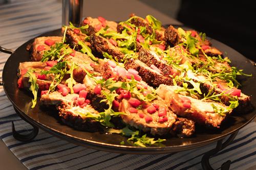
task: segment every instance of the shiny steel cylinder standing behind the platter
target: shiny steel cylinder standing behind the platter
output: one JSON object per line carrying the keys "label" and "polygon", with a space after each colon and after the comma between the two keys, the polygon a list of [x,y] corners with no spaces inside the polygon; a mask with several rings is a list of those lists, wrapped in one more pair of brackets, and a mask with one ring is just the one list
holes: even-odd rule
{"label": "shiny steel cylinder standing behind the platter", "polygon": [[62,0],[62,25],[78,26],[82,21],[82,4],[83,0]]}

